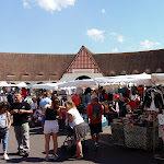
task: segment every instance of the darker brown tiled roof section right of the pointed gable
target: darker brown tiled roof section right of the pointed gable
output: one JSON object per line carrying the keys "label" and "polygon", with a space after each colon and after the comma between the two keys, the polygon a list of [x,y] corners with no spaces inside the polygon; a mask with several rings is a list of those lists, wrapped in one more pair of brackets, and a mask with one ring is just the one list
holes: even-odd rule
{"label": "darker brown tiled roof section right of the pointed gable", "polygon": [[93,54],[92,55],[105,75],[110,72],[119,75],[122,71],[127,74],[133,72],[155,73],[164,72],[164,49],[119,54]]}

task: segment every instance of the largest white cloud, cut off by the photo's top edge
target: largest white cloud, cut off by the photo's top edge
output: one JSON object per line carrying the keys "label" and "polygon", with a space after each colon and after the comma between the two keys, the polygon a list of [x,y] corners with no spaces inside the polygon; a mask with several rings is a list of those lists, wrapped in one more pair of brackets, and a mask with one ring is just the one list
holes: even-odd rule
{"label": "largest white cloud, cut off by the photo's top edge", "polygon": [[61,11],[62,8],[74,5],[75,0],[23,0],[23,5],[36,5],[46,11]]}

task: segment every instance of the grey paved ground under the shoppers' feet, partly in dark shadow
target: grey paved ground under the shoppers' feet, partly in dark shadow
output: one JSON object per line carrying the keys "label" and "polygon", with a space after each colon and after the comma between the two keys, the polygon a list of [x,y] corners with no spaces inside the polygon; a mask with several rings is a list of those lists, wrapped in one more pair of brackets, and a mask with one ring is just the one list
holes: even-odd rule
{"label": "grey paved ground under the shoppers' feet, partly in dark shadow", "polygon": [[[136,149],[126,149],[122,147],[114,145],[110,141],[110,127],[104,128],[104,132],[101,136],[101,143],[97,151],[93,148],[93,142],[90,136],[86,136],[85,145],[89,148],[87,152],[84,151],[83,160],[71,159],[71,151],[63,151],[61,145],[66,139],[66,132],[60,131],[58,136],[58,160],[56,163],[65,164],[154,164],[159,161],[154,161],[153,153]],[[31,154],[28,157],[23,159],[15,154],[16,140],[13,132],[13,127],[10,129],[9,137],[9,156],[8,163],[47,163],[44,161],[44,134],[40,127],[31,128]],[[7,163],[2,160],[2,151],[0,151],[0,164]],[[164,151],[163,151],[164,152]],[[50,153],[52,153],[52,144],[50,144]],[[50,161],[51,163],[54,161]]]}

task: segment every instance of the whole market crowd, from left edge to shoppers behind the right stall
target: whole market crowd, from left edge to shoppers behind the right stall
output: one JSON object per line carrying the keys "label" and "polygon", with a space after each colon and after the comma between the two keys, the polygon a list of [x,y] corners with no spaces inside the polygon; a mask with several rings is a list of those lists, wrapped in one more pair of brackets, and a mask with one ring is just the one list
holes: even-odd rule
{"label": "whole market crowd, from left edge to shoppers behind the right stall", "polygon": [[[45,160],[49,161],[49,141],[54,141],[54,160],[58,159],[57,133],[63,128],[66,120],[73,129],[73,136],[77,144],[75,159],[82,159],[81,140],[86,134],[86,120],[89,122],[94,148],[98,148],[99,133],[102,129],[102,118],[105,116],[108,125],[114,118],[125,117],[136,108],[142,108],[142,94],[132,91],[131,95],[128,89],[118,90],[115,93],[106,93],[103,87],[91,90],[91,87],[77,90],[69,98],[67,95],[58,96],[57,91],[50,95],[43,91],[28,98],[24,92],[14,93],[10,101],[0,103],[0,141],[3,144],[3,159],[9,160],[7,154],[9,129],[11,127],[11,116],[13,117],[13,127],[17,141],[17,155],[27,157],[30,155],[30,125],[37,124],[40,117],[43,133],[45,134]],[[141,95],[140,95],[141,94]],[[139,96],[140,95],[140,96]],[[11,101],[12,99],[12,101]],[[31,124],[30,124],[31,122]]]}

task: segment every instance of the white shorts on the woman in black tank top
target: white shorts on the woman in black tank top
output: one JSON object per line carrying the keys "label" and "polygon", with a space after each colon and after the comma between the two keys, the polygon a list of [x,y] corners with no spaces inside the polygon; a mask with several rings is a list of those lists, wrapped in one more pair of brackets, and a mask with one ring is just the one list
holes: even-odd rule
{"label": "white shorts on the woman in black tank top", "polygon": [[44,133],[57,133],[59,131],[58,120],[45,120]]}

